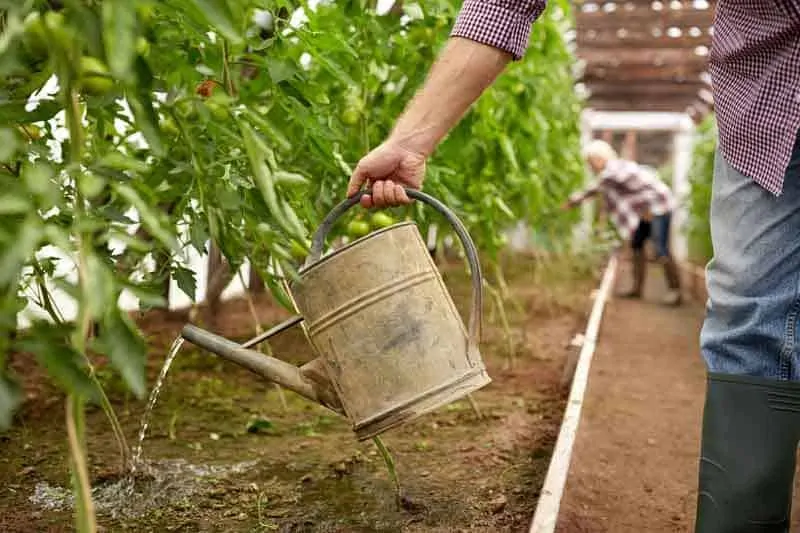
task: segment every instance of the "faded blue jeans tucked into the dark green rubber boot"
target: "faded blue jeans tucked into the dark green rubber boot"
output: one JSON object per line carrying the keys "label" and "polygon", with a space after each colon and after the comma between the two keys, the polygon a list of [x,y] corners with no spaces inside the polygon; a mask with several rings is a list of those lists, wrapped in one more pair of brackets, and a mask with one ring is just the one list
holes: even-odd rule
{"label": "faded blue jeans tucked into the dark green rubber boot", "polygon": [[700,345],[710,372],[800,380],[800,135],[773,196],[717,151]]}

